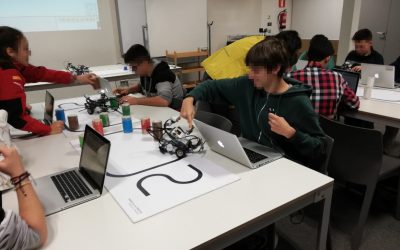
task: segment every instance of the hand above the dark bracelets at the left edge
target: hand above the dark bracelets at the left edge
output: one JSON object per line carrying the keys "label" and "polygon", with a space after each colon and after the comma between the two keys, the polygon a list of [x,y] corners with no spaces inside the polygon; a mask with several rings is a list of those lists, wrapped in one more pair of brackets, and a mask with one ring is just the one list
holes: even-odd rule
{"label": "hand above the dark bracelets at the left edge", "polygon": [[4,159],[0,161],[0,171],[9,175],[11,178],[19,176],[25,172],[21,163],[21,158],[17,150],[12,147],[1,146],[0,153]]}

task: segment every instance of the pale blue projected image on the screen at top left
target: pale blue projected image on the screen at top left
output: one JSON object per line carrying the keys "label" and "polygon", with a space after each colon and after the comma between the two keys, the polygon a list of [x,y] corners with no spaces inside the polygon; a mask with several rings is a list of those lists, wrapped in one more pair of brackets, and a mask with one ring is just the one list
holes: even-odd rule
{"label": "pale blue projected image on the screen at top left", "polygon": [[100,29],[97,0],[0,0],[0,25],[22,32]]}

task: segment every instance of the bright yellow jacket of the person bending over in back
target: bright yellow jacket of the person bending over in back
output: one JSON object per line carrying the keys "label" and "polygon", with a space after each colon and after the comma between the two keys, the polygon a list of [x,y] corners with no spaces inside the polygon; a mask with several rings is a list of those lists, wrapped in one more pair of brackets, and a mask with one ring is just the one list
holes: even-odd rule
{"label": "bright yellow jacket of the person bending over in back", "polygon": [[207,74],[215,80],[245,75],[249,72],[244,63],[247,52],[254,44],[264,38],[264,36],[249,36],[237,40],[214,52],[201,65]]}

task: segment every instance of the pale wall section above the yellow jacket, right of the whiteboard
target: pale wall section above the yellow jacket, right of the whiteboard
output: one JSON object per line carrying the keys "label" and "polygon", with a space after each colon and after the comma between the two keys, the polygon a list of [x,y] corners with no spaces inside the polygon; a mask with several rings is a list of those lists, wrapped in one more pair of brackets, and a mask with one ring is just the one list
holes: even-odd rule
{"label": "pale wall section above the yellow jacket, right of the whiteboard", "polygon": [[261,0],[208,0],[207,20],[211,26],[211,52],[226,45],[228,35],[258,34]]}

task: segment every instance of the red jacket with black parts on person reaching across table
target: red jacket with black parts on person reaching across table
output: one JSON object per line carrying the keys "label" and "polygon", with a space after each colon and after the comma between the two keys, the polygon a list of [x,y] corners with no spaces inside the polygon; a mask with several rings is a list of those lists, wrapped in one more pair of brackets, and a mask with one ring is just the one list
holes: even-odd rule
{"label": "red jacket with black parts on person reaching across table", "polygon": [[8,123],[13,127],[39,135],[51,132],[50,126],[26,113],[25,83],[54,82],[67,84],[73,81],[69,72],[15,64],[15,69],[0,68],[0,109],[8,112]]}

